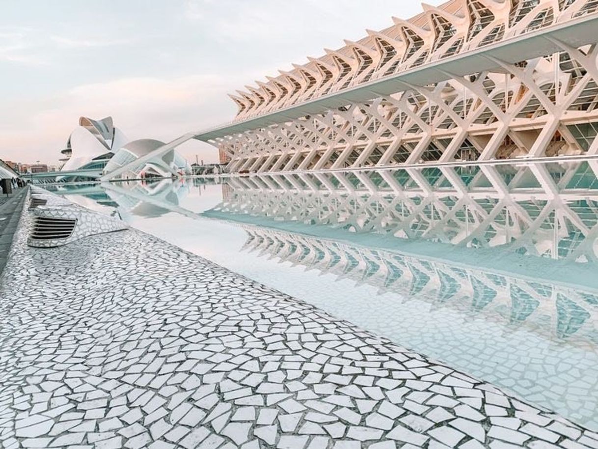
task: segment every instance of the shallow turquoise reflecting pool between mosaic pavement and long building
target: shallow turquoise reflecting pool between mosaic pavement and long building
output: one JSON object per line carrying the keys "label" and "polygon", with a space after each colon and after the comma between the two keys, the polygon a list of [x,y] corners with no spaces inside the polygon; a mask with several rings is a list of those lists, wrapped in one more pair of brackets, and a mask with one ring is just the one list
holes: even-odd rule
{"label": "shallow turquoise reflecting pool between mosaic pavement and long building", "polygon": [[[138,229],[598,429],[596,178],[587,164],[479,173],[163,181],[59,193],[117,210]],[[447,194],[459,180],[467,201]],[[432,197],[437,205],[426,206]],[[381,198],[392,213],[383,213]],[[402,226],[406,205],[416,209]],[[484,220],[490,214],[492,223]]]}

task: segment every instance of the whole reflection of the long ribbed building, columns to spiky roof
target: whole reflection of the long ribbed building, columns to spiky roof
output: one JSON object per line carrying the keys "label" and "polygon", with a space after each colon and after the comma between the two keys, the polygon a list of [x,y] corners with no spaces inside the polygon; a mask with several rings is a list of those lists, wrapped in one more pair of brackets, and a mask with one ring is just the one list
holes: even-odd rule
{"label": "whole reflection of the long ribbed building, columns to spiky roof", "polygon": [[597,331],[593,164],[231,177],[205,215],[249,225],[247,250],[565,337]]}

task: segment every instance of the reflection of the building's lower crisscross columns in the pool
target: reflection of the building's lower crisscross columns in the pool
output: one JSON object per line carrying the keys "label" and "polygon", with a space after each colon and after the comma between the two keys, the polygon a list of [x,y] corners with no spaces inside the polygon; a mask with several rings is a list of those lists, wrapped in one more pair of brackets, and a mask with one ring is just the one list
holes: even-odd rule
{"label": "reflection of the building's lower crisscross columns in the pool", "polygon": [[597,163],[234,177],[213,212],[595,263]]}

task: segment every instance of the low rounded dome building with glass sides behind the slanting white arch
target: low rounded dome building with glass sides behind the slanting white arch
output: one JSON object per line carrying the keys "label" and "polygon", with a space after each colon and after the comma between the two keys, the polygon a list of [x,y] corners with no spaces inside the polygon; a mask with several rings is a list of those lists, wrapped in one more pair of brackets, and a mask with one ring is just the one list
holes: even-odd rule
{"label": "low rounded dome building with glass sides behind the slanting white arch", "polygon": [[[155,139],[139,139],[129,142],[118,150],[112,159],[106,164],[103,173],[107,174],[117,168],[121,168],[140,157],[146,156],[157,148],[166,145],[164,142]],[[139,165],[133,165],[129,171],[124,172],[115,179],[127,178],[152,178],[171,177],[192,174],[191,166],[187,160],[175,150],[170,150],[160,157],[153,157],[144,160]]]}

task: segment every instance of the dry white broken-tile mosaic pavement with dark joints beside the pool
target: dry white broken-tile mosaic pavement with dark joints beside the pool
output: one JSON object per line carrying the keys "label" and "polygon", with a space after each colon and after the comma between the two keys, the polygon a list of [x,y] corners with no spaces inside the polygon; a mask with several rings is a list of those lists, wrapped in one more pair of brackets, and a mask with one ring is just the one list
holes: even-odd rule
{"label": "dry white broken-tile mosaic pavement with dark joints beside the pool", "polygon": [[[0,281],[0,448],[598,448],[598,434],[137,230]],[[7,293],[10,292],[10,293]]]}

